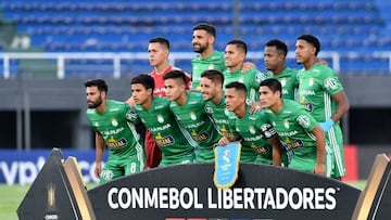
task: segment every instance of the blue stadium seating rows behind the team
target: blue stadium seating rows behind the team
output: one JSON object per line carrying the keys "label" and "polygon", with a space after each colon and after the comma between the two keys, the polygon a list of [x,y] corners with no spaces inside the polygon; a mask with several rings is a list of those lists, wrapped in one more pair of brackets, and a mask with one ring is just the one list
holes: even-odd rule
{"label": "blue stadium seating rows behind the team", "polygon": [[[389,72],[387,57],[370,55],[375,51],[391,50],[391,15],[388,13],[391,3],[388,1],[240,0],[238,5],[235,2],[14,0],[2,1],[0,8],[3,21],[15,24],[16,33],[28,35],[31,47],[47,52],[146,52],[148,40],[155,36],[167,37],[173,42],[173,52],[191,52],[192,26],[209,22],[217,27],[218,50],[223,50],[227,41],[240,38],[248,42],[250,51],[260,52],[267,40],[279,38],[293,51],[298,36],[313,34],[321,40],[324,51],[345,54],[341,59],[343,73]],[[238,17],[234,9],[239,9]],[[238,33],[232,25],[236,18]],[[3,39],[0,36],[7,47]],[[351,52],[362,55],[346,54]],[[76,70],[67,70],[70,76],[78,72],[72,62]],[[189,63],[184,62],[182,68],[190,69]],[[122,68],[127,68],[126,64],[129,62],[122,64]],[[102,65],[110,66],[100,62],[99,69],[105,68]],[[148,66],[148,62],[144,65]],[[128,70],[146,69],[142,66],[143,63],[138,63]]]}

